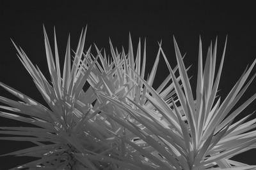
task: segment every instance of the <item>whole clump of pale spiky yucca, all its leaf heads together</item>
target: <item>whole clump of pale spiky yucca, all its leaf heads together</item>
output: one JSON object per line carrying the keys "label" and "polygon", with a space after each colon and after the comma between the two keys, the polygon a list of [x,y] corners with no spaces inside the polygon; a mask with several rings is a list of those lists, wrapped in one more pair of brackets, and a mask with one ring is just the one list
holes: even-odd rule
{"label": "whole clump of pale spiky yucca, all its leaf heads together", "polygon": [[[38,158],[13,169],[256,168],[230,159],[256,146],[256,132],[252,131],[256,120],[246,122],[247,116],[233,123],[234,118],[252,103],[256,94],[232,111],[255,77],[244,85],[256,60],[221,102],[216,94],[225,48],[217,72],[217,41],[213,52],[212,46],[209,47],[203,69],[200,40],[194,97],[187,74],[189,67],[184,65],[175,39],[177,67],[170,67],[159,43],[156,61],[145,78],[146,42],[143,57],[140,41],[134,57],[131,36],[128,53],[124,49],[118,52],[109,40],[112,59],[107,57],[105,51],[102,55],[96,45],[97,55],[94,57],[91,46],[83,52],[85,32],[82,31],[72,65],[68,38],[61,76],[55,31],[54,61],[44,30],[51,83],[15,45],[19,59],[33,77],[49,108],[4,83],[0,84],[22,100],[17,102],[1,97],[1,102],[8,106],[1,106],[6,111],[0,116],[35,125],[0,127],[3,129],[1,134],[16,135],[0,139],[31,141],[36,145],[5,154]],[[152,84],[161,55],[170,74],[154,89]],[[177,70],[179,77],[174,74]],[[84,91],[86,81],[90,87]],[[51,144],[45,145],[44,141]]]}

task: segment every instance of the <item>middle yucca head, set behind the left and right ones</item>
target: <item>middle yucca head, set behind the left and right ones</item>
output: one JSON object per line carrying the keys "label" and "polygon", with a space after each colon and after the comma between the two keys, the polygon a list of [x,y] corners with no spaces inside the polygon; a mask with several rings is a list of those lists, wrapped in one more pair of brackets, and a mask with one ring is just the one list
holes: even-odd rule
{"label": "middle yucca head, set behind the left and right ones", "polygon": [[[104,56],[100,54],[99,49],[95,45],[97,52],[99,53],[99,58],[102,66],[97,64],[97,67],[93,67],[92,74],[89,77],[89,83],[97,94],[106,94],[110,97],[114,97],[118,99],[118,101],[122,101],[125,104],[132,104],[129,99],[132,99],[136,103],[140,104],[141,106],[145,106],[154,110],[152,104],[150,104],[145,94],[148,91],[148,87],[143,85],[143,81],[141,81],[136,74],[140,75],[140,77],[144,78],[145,76],[145,64],[146,64],[146,41],[144,42],[144,49],[143,49],[143,60],[142,60],[142,67],[141,67],[141,42],[139,40],[138,48],[136,52],[136,57],[133,54],[132,48],[132,40],[131,35],[129,35],[129,52],[125,55],[124,48],[122,52],[118,52],[118,50],[114,50],[111,40],[109,39],[109,45],[111,50],[111,59],[113,62],[107,62],[106,52],[104,52]],[[160,44],[161,46],[161,44]],[[156,56],[156,60],[154,62],[154,66],[152,67],[152,71],[148,74],[147,78],[147,85],[152,88],[152,84],[154,82],[154,78],[156,76],[157,66],[159,63],[159,58],[161,54],[161,48],[159,48]],[[177,71],[177,66],[175,67],[175,71]],[[135,73],[134,73],[135,71]],[[166,103],[170,103],[170,98],[175,96],[175,90],[173,87],[172,82],[170,81],[171,77],[167,76],[165,80],[157,87],[156,91],[160,97],[166,101]],[[180,80],[180,78],[179,78]],[[168,85],[170,83],[170,85]],[[127,98],[129,97],[129,99]],[[102,97],[98,97],[97,104],[102,105],[102,101],[108,103],[108,99],[104,99]],[[132,106],[132,105],[131,105]],[[108,110],[108,113],[116,114],[117,117],[120,118],[129,118],[127,113],[123,111],[115,111],[118,110],[115,105],[111,105],[107,107],[105,105],[102,109]],[[156,117],[158,115],[156,114]],[[106,117],[108,119],[108,117]],[[111,121],[111,119],[108,119]],[[113,120],[112,120],[113,121]],[[112,122],[112,124],[114,124]],[[122,133],[122,129],[120,129],[120,125],[115,125],[116,129],[111,129],[112,132],[115,133]],[[110,129],[109,129],[110,130]]]}

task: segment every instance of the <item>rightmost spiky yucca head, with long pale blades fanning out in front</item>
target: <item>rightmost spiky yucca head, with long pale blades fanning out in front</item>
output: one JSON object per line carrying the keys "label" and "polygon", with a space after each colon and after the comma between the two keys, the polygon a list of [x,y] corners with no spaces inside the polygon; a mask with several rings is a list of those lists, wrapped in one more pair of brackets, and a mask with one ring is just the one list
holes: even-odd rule
{"label": "rightmost spiky yucca head, with long pale blades fanning out in front", "polygon": [[[99,93],[100,96],[108,99],[129,114],[129,117],[136,120],[135,124],[127,118],[114,117],[107,110],[104,111],[108,117],[125,127],[127,131],[136,134],[137,141],[131,141],[129,137],[125,138],[127,150],[131,151],[132,157],[136,157],[134,160],[148,164],[154,169],[256,169],[256,166],[248,166],[230,159],[234,155],[256,146],[256,131],[252,131],[256,127],[256,119],[245,122],[250,117],[248,115],[232,124],[234,118],[256,98],[256,94],[254,94],[236,110],[232,111],[232,108],[255,78],[254,74],[248,83],[244,84],[256,60],[249,69],[244,71],[236,85],[221,103],[220,97],[217,97],[216,94],[220,83],[225,48],[218,72],[215,68],[217,41],[213,52],[212,46],[209,46],[205,68],[202,69],[202,43],[200,40],[196,97],[193,97],[186,67],[175,39],[174,44],[184,90],[180,88],[161,46],[160,50],[170,71],[175,92],[179,98],[178,103],[174,102],[173,99],[172,103],[166,103],[148,85],[147,81],[140,78],[140,75],[134,71],[143,85],[148,87],[148,91],[143,94],[143,97],[154,106],[157,115],[161,115],[161,119],[156,117],[156,111],[141,106],[131,97],[127,97],[127,99],[132,103],[132,106],[106,96],[102,92]],[[214,80],[215,72],[217,72],[217,75]],[[179,107],[177,104],[179,104]],[[162,120],[166,120],[166,124],[163,124]],[[138,125],[138,122],[140,125]]]}

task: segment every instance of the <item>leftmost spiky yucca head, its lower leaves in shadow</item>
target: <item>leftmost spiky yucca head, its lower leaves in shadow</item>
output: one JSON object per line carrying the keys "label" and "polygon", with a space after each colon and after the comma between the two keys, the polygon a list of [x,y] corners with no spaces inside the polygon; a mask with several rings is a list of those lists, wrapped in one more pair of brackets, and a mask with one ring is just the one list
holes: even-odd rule
{"label": "leftmost spiky yucca head, its lower leaves in shadow", "polygon": [[[38,160],[13,169],[26,167],[29,169],[115,169],[112,166],[118,160],[108,159],[115,157],[117,148],[113,145],[115,143],[108,140],[113,136],[109,132],[109,129],[113,129],[113,125],[98,114],[99,104],[93,104],[97,100],[93,89],[89,88],[86,92],[83,90],[84,83],[90,76],[93,76],[91,71],[96,67],[95,63],[99,57],[98,54],[93,58],[90,48],[85,54],[83,53],[85,33],[86,30],[81,33],[72,65],[70,62],[70,38],[68,38],[61,77],[55,31],[54,62],[51,46],[44,29],[45,51],[52,83],[49,83],[40,69],[31,63],[26,53],[15,45],[20,61],[33,77],[37,89],[49,108],[8,85],[0,83],[1,87],[21,100],[17,102],[0,97],[1,103],[10,106],[0,106],[6,110],[1,112],[0,116],[35,126],[0,127],[4,130],[0,131],[1,134],[16,135],[15,137],[1,137],[1,140],[30,141],[36,145],[32,148],[5,154],[38,158]],[[104,105],[104,103],[102,104]],[[51,142],[51,145],[45,145],[45,141]],[[103,159],[107,159],[107,161]],[[125,167],[125,164],[123,166]]]}

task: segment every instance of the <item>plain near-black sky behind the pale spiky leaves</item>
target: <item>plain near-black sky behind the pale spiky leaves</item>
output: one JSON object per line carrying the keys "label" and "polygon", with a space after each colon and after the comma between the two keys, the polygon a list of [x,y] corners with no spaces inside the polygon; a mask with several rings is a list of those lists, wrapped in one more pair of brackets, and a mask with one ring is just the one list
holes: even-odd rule
{"label": "plain near-black sky behind the pale spiky leaves", "polygon": [[[156,3],[157,2],[157,3]],[[40,93],[26,69],[22,66],[10,38],[20,45],[29,59],[38,65],[49,78],[45,57],[43,27],[47,30],[49,39],[53,43],[53,27],[56,27],[60,60],[63,63],[68,33],[71,34],[71,46],[75,50],[81,29],[88,25],[86,45],[88,48],[96,43],[99,48],[106,47],[109,53],[108,38],[110,37],[118,50],[122,46],[127,52],[128,36],[131,32],[134,48],[138,39],[147,38],[147,73],[154,64],[157,54],[157,41],[163,40],[164,52],[172,67],[176,65],[172,35],[177,39],[180,51],[187,53],[185,64],[189,75],[196,75],[198,57],[198,39],[202,37],[203,55],[207,46],[218,36],[219,64],[225,38],[228,35],[227,52],[223,72],[221,74],[220,92],[222,99],[227,96],[233,85],[243,73],[245,67],[255,59],[256,49],[256,15],[253,4],[221,3],[218,1],[10,1],[1,3],[0,11],[0,81],[20,90],[24,94],[44,103]],[[95,52],[95,50],[93,50]],[[136,52],[136,50],[134,50]],[[217,64],[217,65],[218,65]],[[255,73],[255,69],[253,69]],[[156,83],[157,87],[168,74],[163,58],[159,63]],[[195,89],[195,77],[191,85]],[[241,104],[256,92],[256,81],[241,98]],[[0,96],[15,97],[0,89]],[[241,117],[252,113],[256,103],[253,102]],[[241,118],[239,117],[239,118]],[[255,117],[255,116],[254,116]],[[24,125],[19,122],[0,118],[0,126]],[[24,142],[0,141],[0,154],[26,148],[30,144]],[[238,155],[234,159],[247,164],[255,164],[255,151]],[[0,157],[0,169],[8,169],[22,164],[29,158]]]}

